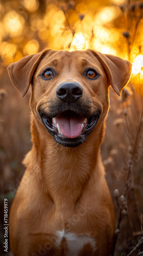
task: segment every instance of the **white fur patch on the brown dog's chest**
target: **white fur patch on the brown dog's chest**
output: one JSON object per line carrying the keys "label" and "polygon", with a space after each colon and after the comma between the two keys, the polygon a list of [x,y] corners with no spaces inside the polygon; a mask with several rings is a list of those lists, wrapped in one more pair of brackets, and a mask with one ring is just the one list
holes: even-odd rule
{"label": "white fur patch on the brown dog's chest", "polygon": [[67,248],[69,250],[68,256],[78,256],[79,251],[88,243],[92,247],[93,251],[96,250],[96,242],[87,234],[77,236],[75,233],[66,233],[63,229],[63,231],[57,231],[57,236],[57,247],[60,246],[63,238],[66,240]]}

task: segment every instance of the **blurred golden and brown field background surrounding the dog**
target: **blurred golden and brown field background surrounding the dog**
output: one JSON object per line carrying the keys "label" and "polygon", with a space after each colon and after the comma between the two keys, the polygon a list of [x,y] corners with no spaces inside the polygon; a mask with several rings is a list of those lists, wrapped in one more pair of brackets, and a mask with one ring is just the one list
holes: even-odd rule
{"label": "blurred golden and brown field background surrounding the dog", "polygon": [[134,247],[132,255],[143,251],[138,246],[143,223],[142,40],[143,1],[0,1],[0,255],[4,254],[4,198],[10,211],[25,170],[21,161],[31,148],[31,91],[21,99],[7,67],[45,47],[90,48],[128,59],[133,65],[121,97],[110,88],[102,159],[116,215],[112,255],[126,256]]}

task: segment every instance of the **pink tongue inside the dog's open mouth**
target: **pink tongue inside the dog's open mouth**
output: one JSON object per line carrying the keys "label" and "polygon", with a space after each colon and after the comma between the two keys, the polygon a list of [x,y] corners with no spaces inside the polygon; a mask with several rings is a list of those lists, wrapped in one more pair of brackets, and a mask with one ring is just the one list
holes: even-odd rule
{"label": "pink tongue inside the dog's open mouth", "polygon": [[81,125],[84,122],[84,117],[80,115],[72,115],[72,113],[63,113],[56,117],[56,123],[60,125],[61,132],[66,138],[76,138],[81,133]]}

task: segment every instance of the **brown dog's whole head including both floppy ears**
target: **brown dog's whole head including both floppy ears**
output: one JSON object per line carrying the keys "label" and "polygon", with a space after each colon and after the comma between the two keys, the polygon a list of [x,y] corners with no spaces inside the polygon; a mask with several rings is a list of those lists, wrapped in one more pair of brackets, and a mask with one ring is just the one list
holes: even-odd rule
{"label": "brown dog's whole head including both floppy ears", "polygon": [[93,50],[44,50],[12,63],[8,71],[22,97],[32,85],[31,109],[40,124],[56,142],[73,147],[103,122],[108,87],[120,95],[131,63]]}

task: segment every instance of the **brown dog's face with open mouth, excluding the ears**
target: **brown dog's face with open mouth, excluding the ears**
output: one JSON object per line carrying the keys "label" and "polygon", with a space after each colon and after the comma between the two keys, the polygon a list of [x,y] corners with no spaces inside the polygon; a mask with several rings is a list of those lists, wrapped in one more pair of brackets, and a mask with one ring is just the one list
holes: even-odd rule
{"label": "brown dog's face with open mouth, excluding the ears", "polygon": [[45,55],[34,75],[31,109],[56,142],[84,142],[108,110],[107,78],[100,61],[88,52]]}

